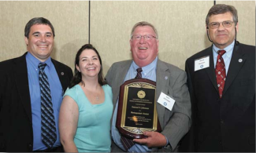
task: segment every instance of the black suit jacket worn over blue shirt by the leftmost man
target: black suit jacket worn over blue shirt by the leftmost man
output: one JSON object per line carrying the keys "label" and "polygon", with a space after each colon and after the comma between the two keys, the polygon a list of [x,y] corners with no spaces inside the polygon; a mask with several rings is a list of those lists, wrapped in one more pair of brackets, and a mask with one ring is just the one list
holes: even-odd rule
{"label": "black suit jacket worn over blue shirt by the leftmost man", "polygon": [[[32,108],[26,54],[0,63],[0,151],[33,149]],[[69,86],[72,70],[52,60],[62,89]]]}

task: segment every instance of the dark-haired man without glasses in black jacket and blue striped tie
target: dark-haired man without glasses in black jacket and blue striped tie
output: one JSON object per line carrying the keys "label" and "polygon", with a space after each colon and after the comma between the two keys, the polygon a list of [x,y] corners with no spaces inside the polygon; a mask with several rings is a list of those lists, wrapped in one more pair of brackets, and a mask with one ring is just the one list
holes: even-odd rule
{"label": "dark-haired man without glasses in black jacket and blue striped tie", "polygon": [[63,151],[58,113],[72,70],[50,58],[55,34],[49,20],[29,20],[24,35],[28,52],[0,63],[0,151]]}

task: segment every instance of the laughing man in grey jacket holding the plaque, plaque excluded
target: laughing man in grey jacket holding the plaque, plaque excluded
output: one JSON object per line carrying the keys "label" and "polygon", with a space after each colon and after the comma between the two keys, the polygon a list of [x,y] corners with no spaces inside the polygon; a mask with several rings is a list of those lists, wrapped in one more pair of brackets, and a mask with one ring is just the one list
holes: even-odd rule
{"label": "laughing man in grey jacket holding the plaque, plaque excluded", "polygon": [[[106,75],[106,80],[113,90],[112,151],[176,151],[178,142],[191,126],[191,102],[186,73],[158,59],[158,32],[150,23],[139,22],[134,25],[130,46],[132,60],[113,64]],[[140,71],[136,71],[137,69]],[[147,138],[132,140],[121,136],[116,122],[120,117],[117,117],[120,86],[135,76],[156,82],[155,101],[161,133],[147,131],[143,133]],[[169,107],[159,104],[160,94],[175,100],[171,111]]]}

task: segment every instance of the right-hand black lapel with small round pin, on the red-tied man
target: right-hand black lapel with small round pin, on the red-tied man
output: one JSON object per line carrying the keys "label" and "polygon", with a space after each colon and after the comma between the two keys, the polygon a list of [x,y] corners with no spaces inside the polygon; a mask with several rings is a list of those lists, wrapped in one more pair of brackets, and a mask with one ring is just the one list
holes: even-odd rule
{"label": "right-hand black lapel with small round pin, on the red-tied man", "polygon": [[233,50],[232,59],[228,67],[228,75],[224,85],[223,95],[231,86],[232,82],[236,78],[236,75],[239,73],[241,67],[243,67],[243,64],[247,60],[246,57],[243,56],[242,51],[242,49],[239,49],[239,46],[235,46]]}

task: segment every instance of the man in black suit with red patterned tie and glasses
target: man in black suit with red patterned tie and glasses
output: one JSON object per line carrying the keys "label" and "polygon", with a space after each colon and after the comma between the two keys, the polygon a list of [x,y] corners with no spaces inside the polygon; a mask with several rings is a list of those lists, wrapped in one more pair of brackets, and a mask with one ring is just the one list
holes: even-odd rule
{"label": "man in black suit with red patterned tie and glasses", "polygon": [[255,46],[236,41],[238,27],[232,5],[206,16],[213,46],[186,61],[193,124],[180,151],[255,152]]}

